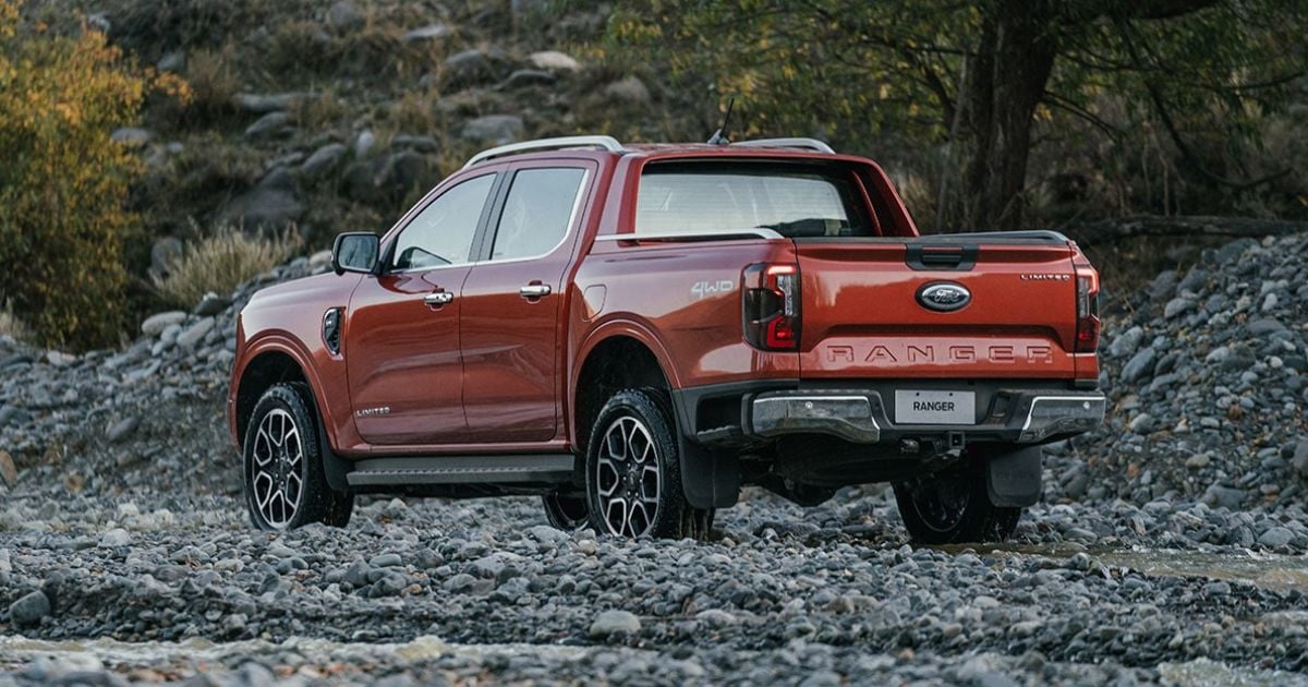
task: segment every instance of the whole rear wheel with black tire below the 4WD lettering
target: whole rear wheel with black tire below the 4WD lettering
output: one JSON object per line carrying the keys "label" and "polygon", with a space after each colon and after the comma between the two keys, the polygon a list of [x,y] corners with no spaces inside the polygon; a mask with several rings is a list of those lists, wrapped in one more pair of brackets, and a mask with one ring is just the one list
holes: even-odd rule
{"label": "whole rear wheel with black tire below the 4WD lettering", "polygon": [[[621,440],[627,442],[624,446],[617,446],[620,441],[612,434],[615,428],[625,437]],[[625,457],[628,449],[630,462],[640,474],[634,480],[628,476],[634,475],[628,462],[617,461],[619,454]],[[602,463],[607,465],[602,468]],[[657,472],[650,467],[657,468]],[[620,468],[624,470],[621,474]],[[654,492],[650,484],[655,474],[657,497],[651,499]],[[619,491],[623,493],[619,495]],[[586,499],[591,526],[600,534],[663,539],[708,538],[713,527],[713,509],[693,508],[685,500],[676,420],[662,391],[621,390],[600,408],[586,445]],[[632,506],[628,501],[630,499],[638,499],[640,508]],[[649,512],[650,508],[653,513]],[[624,509],[625,520],[617,517]]]}

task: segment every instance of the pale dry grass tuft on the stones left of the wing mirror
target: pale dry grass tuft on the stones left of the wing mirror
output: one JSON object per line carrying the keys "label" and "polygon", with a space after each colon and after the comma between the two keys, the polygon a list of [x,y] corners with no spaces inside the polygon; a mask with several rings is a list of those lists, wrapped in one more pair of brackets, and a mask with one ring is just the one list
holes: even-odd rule
{"label": "pale dry grass tuft on the stones left of the wing mirror", "polygon": [[300,247],[300,236],[288,229],[281,236],[251,236],[224,228],[188,246],[154,288],[179,308],[192,308],[205,293],[226,296],[241,284],[281,264]]}

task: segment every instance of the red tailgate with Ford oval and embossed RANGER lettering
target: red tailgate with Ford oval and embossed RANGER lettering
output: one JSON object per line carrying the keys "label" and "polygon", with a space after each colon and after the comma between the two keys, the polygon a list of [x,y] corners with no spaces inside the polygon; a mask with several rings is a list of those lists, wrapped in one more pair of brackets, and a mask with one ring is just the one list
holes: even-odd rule
{"label": "red tailgate with Ford oval and embossed RANGER lettering", "polygon": [[795,253],[803,378],[1075,377],[1066,241],[799,238]]}

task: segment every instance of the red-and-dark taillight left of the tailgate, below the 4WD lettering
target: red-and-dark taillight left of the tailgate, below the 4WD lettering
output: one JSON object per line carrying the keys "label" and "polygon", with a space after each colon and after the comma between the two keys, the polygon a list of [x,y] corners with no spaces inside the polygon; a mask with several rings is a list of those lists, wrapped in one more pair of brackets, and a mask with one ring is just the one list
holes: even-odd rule
{"label": "red-and-dark taillight left of the tailgate, below the 4WD lettering", "polygon": [[751,264],[744,270],[744,340],[764,351],[799,349],[799,267]]}

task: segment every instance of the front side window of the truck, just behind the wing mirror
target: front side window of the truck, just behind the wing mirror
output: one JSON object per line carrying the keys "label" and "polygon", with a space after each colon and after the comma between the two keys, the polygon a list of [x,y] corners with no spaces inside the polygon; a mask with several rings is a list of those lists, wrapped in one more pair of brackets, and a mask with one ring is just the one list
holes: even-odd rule
{"label": "front side window of the truck, just behind the wing mirror", "polygon": [[395,241],[391,270],[429,270],[472,262],[472,239],[494,186],[485,174],[445,191]]}

